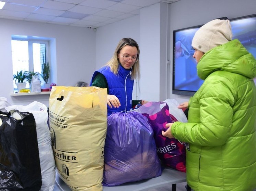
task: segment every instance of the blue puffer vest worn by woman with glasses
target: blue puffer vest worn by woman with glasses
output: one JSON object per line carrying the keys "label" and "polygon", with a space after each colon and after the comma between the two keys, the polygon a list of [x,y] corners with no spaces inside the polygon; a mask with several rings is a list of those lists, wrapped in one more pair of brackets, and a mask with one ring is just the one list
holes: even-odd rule
{"label": "blue puffer vest worn by woman with glasses", "polygon": [[115,95],[121,104],[119,108],[110,108],[107,106],[107,115],[109,116],[113,112],[129,111],[132,104],[132,90],[134,82],[134,80],[131,80],[131,70],[127,70],[122,66],[119,66],[118,75],[116,75],[110,71],[108,66],[104,66],[94,72],[92,81],[98,72],[105,76],[108,83],[109,94]]}

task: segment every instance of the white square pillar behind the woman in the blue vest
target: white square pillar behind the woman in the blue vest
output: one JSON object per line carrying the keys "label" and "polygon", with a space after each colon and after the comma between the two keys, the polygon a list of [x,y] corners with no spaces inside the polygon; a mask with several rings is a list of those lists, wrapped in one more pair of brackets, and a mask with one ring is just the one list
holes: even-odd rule
{"label": "white square pillar behind the woman in the blue vest", "polygon": [[156,3],[140,12],[141,98],[148,101],[166,99],[167,16],[167,3]]}

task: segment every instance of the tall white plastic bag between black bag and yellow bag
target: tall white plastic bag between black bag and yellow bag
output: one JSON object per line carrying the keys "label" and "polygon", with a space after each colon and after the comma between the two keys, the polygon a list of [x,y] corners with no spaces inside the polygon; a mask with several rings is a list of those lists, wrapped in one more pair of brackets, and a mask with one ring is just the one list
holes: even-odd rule
{"label": "tall white plastic bag between black bag and yellow bag", "polygon": [[51,147],[51,133],[47,124],[47,107],[34,101],[26,106],[12,105],[5,107],[7,111],[19,110],[33,114],[36,122],[37,142],[42,174],[42,187],[40,191],[53,191],[55,185],[55,161]]}

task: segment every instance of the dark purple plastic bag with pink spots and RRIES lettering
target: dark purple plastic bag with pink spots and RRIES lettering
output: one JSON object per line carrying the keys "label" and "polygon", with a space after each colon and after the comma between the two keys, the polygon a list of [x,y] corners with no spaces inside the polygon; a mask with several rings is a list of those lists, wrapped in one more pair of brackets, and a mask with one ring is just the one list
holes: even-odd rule
{"label": "dark purple plastic bag with pink spots and RRIES lettering", "polygon": [[156,149],[161,162],[171,168],[186,172],[186,149],[184,143],[162,135],[165,125],[177,121],[164,102],[148,102],[139,107],[139,113],[145,115],[154,131]]}

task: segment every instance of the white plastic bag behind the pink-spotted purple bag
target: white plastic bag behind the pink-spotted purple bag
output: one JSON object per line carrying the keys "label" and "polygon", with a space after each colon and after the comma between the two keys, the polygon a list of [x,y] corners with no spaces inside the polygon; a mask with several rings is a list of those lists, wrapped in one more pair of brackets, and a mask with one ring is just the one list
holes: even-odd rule
{"label": "white plastic bag behind the pink-spotted purple bag", "polygon": [[178,108],[179,103],[175,99],[166,99],[165,102],[169,107],[169,112],[173,115],[178,121],[186,123],[188,122],[187,117],[182,109]]}

